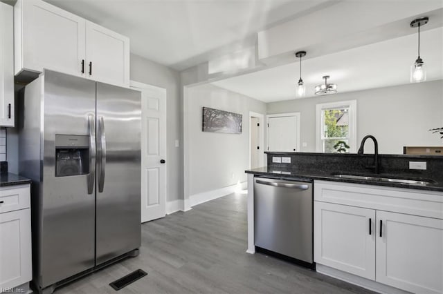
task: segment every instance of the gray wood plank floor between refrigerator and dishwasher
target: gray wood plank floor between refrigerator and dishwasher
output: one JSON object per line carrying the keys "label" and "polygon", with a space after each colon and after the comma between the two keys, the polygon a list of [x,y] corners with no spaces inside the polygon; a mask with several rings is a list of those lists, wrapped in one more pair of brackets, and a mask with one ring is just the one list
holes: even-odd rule
{"label": "gray wood plank floor between refrigerator and dishwasher", "polygon": [[246,195],[228,195],[142,226],[140,255],[55,293],[117,293],[109,286],[141,268],[123,293],[372,293],[307,268],[246,251]]}

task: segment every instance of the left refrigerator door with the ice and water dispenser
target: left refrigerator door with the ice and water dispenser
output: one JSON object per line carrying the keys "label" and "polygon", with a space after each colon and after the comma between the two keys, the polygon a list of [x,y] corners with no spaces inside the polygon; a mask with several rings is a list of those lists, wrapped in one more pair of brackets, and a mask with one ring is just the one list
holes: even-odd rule
{"label": "left refrigerator door with the ice and water dispenser", "polygon": [[45,70],[43,90],[43,173],[33,195],[42,201],[33,207],[39,215],[33,255],[38,284],[46,287],[94,266],[96,83]]}

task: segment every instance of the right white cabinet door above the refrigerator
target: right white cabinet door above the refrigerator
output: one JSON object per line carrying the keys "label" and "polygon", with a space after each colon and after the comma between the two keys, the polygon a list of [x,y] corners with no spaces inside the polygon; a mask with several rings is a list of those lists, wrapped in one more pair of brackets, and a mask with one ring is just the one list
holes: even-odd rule
{"label": "right white cabinet door above the refrigerator", "polygon": [[87,77],[129,87],[129,38],[87,21]]}

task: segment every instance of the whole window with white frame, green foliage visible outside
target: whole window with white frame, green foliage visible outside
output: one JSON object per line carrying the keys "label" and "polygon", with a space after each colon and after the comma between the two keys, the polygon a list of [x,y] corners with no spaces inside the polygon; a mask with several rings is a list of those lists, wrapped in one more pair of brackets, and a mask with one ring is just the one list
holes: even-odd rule
{"label": "whole window with white frame, green foliage visible outside", "polygon": [[317,104],[316,119],[317,152],[356,152],[355,100]]}

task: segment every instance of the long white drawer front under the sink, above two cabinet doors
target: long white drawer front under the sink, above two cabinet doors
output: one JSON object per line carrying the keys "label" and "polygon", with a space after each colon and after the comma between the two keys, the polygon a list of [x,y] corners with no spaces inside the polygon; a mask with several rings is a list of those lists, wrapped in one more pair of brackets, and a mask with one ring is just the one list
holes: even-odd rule
{"label": "long white drawer front under the sink, above two cabinet doors", "polygon": [[314,199],[320,202],[443,219],[442,192],[314,181]]}

